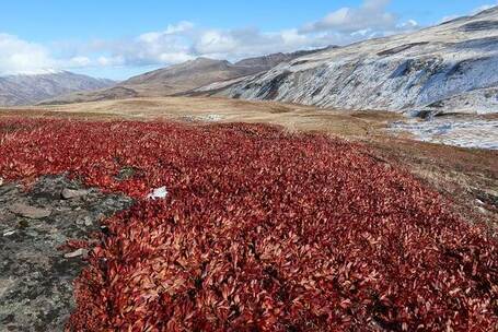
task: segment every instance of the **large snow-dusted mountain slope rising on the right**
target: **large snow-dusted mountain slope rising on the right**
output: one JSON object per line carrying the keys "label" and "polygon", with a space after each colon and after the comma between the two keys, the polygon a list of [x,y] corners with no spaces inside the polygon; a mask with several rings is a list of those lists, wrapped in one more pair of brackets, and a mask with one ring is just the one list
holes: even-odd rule
{"label": "large snow-dusted mountain slope rising on the right", "polygon": [[498,111],[497,87],[498,8],[493,8],[415,33],[306,55],[199,92],[345,109],[486,114]]}

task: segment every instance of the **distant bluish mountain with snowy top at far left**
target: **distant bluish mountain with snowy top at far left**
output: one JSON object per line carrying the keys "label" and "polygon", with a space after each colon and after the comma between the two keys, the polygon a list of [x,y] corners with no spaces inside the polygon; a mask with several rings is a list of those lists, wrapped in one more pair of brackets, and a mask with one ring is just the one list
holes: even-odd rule
{"label": "distant bluish mountain with snowy top at far left", "polygon": [[31,105],[76,91],[91,91],[115,82],[68,71],[0,78],[0,106]]}

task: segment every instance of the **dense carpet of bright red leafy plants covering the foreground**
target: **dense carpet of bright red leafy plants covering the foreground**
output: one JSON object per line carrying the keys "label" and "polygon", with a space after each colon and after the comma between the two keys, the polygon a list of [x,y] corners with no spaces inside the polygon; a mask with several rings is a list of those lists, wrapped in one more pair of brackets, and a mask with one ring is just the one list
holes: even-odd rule
{"label": "dense carpet of bright red leafy plants covering the foreground", "polygon": [[106,222],[70,330],[497,328],[497,240],[364,147],[254,124],[3,118],[0,133],[7,179],[69,171],[137,199]]}

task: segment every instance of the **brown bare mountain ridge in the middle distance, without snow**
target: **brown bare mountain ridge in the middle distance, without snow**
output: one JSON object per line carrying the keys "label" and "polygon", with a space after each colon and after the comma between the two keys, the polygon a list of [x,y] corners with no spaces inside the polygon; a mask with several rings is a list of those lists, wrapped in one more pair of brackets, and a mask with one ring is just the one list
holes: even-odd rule
{"label": "brown bare mountain ridge in the middle distance, without snow", "polygon": [[74,93],[44,100],[43,104],[67,104],[120,99],[127,97],[162,97],[189,92],[213,82],[240,79],[268,71],[278,63],[290,61],[303,55],[320,50],[274,54],[248,58],[235,63],[227,60],[198,58],[196,60],[154,70],[134,76],[112,88]]}

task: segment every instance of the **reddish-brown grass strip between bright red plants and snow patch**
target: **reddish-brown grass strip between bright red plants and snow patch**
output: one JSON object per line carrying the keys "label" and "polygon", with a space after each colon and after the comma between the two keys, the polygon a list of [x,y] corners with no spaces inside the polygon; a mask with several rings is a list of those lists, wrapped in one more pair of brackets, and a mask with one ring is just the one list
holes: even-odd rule
{"label": "reddish-brown grass strip between bright red plants and snow patch", "polygon": [[[375,155],[401,165],[454,202],[466,220],[498,230],[498,152],[378,135]],[[480,203],[480,202],[482,203]]]}

